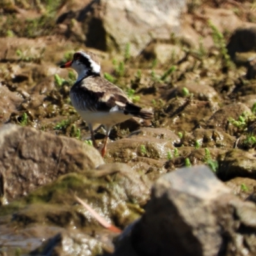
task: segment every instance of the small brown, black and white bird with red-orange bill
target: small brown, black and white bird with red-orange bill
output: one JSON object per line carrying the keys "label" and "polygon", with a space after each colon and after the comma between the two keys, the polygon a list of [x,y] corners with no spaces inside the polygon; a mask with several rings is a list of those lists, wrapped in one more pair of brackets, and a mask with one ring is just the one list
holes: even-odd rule
{"label": "small brown, black and white bird with red-orange bill", "polygon": [[77,51],[73,59],[60,68],[73,68],[77,72],[77,80],[70,89],[70,100],[90,129],[93,147],[98,147],[93,134],[93,125],[101,124],[106,129],[101,150],[102,157],[106,154],[108,136],[113,125],[124,122],[132,116],[143,119],[153,118],[152,111],[134,104],[118,86],[100,75],[97,54]]}

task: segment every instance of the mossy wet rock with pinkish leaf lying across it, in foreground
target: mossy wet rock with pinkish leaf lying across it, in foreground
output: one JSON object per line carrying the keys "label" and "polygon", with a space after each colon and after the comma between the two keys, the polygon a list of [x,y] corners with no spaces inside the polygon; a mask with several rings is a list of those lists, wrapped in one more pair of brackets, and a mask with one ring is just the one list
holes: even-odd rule
{"label": "mossy wet rock with pinkish leaf lying across it, in foreground", "polygon": [[[85,200],[100,216],[118,227],[136,220],[148,201],[151,183],[126,164],[102,164],[97,169],[61,175],[17,201],[4,205],[2,214],[13,214],[16,225],[43,223],[59,227],[99,228],[99,223],[74,195]],[[61,205],[61,207],[60,207]],[[0,213],[1,213],[0,212]],[[0,220],[4,222],[6,218]],[[0,222],[1,222],[0,221]]]}

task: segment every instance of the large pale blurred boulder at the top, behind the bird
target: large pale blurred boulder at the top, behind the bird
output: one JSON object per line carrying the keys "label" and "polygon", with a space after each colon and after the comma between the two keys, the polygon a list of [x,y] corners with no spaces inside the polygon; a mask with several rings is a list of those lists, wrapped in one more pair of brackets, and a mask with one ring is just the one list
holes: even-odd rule
{"label": "large pale blurred boulder at the top, behind the bird", "polygon": [[83,9],[63,13],[58,22],[70,22],[70,18],[81,22],[87,47],[124,52],[129,43],[136,56],[152,38],[168,39],[172,32],[179,32],[185,4],[184,0],[92,1]]}

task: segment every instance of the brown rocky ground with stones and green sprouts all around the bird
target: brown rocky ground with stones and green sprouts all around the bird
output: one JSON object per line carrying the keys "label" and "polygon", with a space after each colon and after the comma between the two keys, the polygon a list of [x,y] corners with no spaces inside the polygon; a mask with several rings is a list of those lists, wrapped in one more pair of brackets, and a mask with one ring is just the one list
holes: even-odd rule
{"label": "brown rocky ground with stones and green sprouts all around the bird", "polygon": [[[225,185],[210,172],[202,175],[202,183],[195,181],[196,196],[193,189],[186,190],[195,186],[188,180],[173,191],[206,202],[201,198],[205,191],[200,189],[206,186],[207,204],[220,201],[216,209],[227,216],[238,212],[237,222],[232,217],[212,217],[211,223],[198,224],[212,225],[216,234],[216,223],[228,220],[230,229],[225,234],[236,243],[225,247],[223,241],[228,238],[215,237],[214,250],[207,254],[202,237],[190,237],[184,244],[177,239],[180,248],[193,239],[199,242],[176,255],[255,255],[255,224],[249,221],[254,220],[254,205],[243,202],[255,201],[256,187],[254,1],[173,0],[171,7],[158,6],[158,12],[163,12],[156,15],[157,22],[164,24],[161,29],[143,1],[131,1],[128,7],[125,4],[130,1],[114,2],[0,3],[0,255],[113,253],[116,234],[101,228],[74,195],[121,229],[146,209],[131,239],[133,244],[134,237],[144,240],[135,243],[136,252],[127,255],[150,255],[143,252],[152,239],[144,226],[149,218],[150,223],[154,220],[154,230],[160,218],[150,215],[158,195],[154,188],[164,173],[173,175],[168,179],[178,179],[174,170],[199,164],[209,166]],[[115,17],[122,22],[115,22]],[[172,22],[166,22],[170,17]],[[145,36],[142,31],[147,31]],[[154,111],[153,120],[132,118],[113,127],[104,159],[92,147],[88,126],[70,104],[68,93],[76,74],[59,68],[81,48],[99,55],[102,76],[120,86],[136,104]],[[104,129],[99,128],[95,136],[100,144]],[[216,191],[207,180],[223,193],[212,199]],[[226,204],[232,205],[227,211]],[[150,205],[153,209],[148,210]],[[241,213],[241,209],[248,210]],[[236,225],[240,226],[236,229]],[[189,227],[196,228],[195,221]],[[165,232],[163,236],[176,235]],[[69,244],[67,251],[61,244]]]}

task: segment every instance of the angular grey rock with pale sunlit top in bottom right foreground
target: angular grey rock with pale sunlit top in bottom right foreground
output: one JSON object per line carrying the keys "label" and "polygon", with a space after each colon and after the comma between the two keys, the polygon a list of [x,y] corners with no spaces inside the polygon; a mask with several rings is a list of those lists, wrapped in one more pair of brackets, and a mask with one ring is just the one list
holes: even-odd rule
{"label": "angular grey rock with pale sunlit top in bottom right foreground", "polygon": [[206,166],[163,175],[133,230],[136,250],[145,255],[217,255],[222,239],[213,211],[228,193]]}

